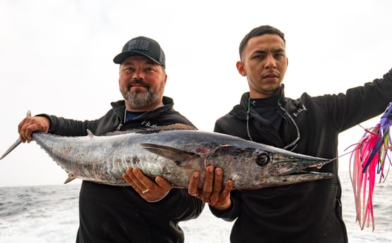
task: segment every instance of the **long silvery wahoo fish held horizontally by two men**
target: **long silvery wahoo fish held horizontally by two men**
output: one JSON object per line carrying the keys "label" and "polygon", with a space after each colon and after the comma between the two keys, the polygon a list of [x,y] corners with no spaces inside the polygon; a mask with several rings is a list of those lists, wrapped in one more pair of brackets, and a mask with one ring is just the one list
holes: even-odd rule
{"label": "long silvery wahoo fish held horizontally by two men", "polygon": [[[234,189],[274,187],[333,177],[331,173],[305,170],[320,168],[331,161],[328,159],[295,154],[231,135],[171,126],[104,136],[89,132],[84,137],[35,132],[32,139],[66,170],[66,182],[80,178],[106,185],[128,185],[122,175],[127,168],[137,167],[149,177],[160,175],[176,187],[188,187],[192,173],[200,171],[203,178],[208,165],[222,168],[223,180],[233,180]],[[6,154],[17,145],[18,141]]]}

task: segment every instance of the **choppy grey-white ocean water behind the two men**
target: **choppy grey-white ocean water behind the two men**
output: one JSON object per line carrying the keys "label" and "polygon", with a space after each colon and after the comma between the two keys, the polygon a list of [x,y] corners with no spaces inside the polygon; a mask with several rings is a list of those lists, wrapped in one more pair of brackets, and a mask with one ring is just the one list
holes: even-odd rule
{"label": "choppy grey-white ocean water behind the two men", "polygon": [[[348,172],[341,173],[343,217],[350,243],[392,242],[392,182],[374,190],[376,228],[360,230],[355,223],[353,189]],[[80,185],[0,187],[0,243],[70,243],[78,230]],[[206,207],[202,215],[180,223],[185,242],[229,242],[232,223],[215,218]]]}

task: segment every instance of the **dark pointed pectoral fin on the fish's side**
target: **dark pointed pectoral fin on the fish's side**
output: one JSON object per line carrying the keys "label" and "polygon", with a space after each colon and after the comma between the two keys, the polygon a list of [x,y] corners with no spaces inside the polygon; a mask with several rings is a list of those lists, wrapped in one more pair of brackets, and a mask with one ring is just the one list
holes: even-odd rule
{"label": "dark pointed pectoral fin on the fish's side", "polygon": [[199,157],[199,154],[188,152],[188,151],[183,151],[180,149],[176,149],[173,147],[168,147],[160,144],[148,144],[148,143],[142,143],[140,146],[143,149],[147,149],[148,151],[157,154],[159,156],[162,156],[164,158],[168,158],[171,161],[176,162],[178,166],[181,165],[181,163],[185,161],[191,161],[195,159],[196,157]]}

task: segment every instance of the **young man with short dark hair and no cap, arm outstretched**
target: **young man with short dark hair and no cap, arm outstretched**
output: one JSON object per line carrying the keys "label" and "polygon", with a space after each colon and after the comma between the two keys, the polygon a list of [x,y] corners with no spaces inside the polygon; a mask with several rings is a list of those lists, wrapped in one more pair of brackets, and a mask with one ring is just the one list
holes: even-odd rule
{"label": "young man with short dark hair and no cap, arm outstretched", "polygon": [[[392,70],[381,79],[345,94],[299,99],[284,95],[283,77],[288,66],[283,33],[269,25],[251,30],[240,44],[240,75],[247,77],[250,92],[240,104],[216,120],[215,132],[235,135],[321,158],[338,156],[338,134],[385,111],[392,101]],[[221,168],[207,168],[204,189],[195,187],[212,213],[233,221],[231,242],[348,242],[341,208],[338,161],[319,172],[331,179],[256,190],[231,191],[231,180],[222,182]],[[222,183],[226,183],[221,191]]]}

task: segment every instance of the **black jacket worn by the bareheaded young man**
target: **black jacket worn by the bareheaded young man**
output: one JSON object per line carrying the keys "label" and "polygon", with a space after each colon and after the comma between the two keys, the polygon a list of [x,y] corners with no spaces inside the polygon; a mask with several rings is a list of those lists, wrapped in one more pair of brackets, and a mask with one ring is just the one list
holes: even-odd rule
{"label": "black jacket worn by the bareheaded young man", "polygon": [[[290,99],[284,96],[283,88],[281,85],[278,94],[266,101],[267,106],[275,109],[280,116],[280,124],[271,124],[271,113],[267,115],[269,117],[257,113],[259,107],[252,105],[259,106],[257,104],[262,101],[252,102],[249,93],[245,93],[240,104],[216,120],[214,131],[244,139],[252,137],[255,142],[280,148],[295,141],[299,132],[300,139],[295,143],[293,152],[336,158],[339,132],[379,115],[392,101],[392,70],[382,79],[348,89],[345,94],[310,96],[304,93],[299,99]],[[265,108],[261,110],[265,111]],[[276,120],[276,116],[272,118]],[[281,187],[241,192],[233,190],[231,208],[226,211],[218,211],[212,206],[209,208],[219,218],[235,220],[231,230],[233,243],[346,243],[348,237],[342,218],[338,160],[317,171],[335,176]]]}

